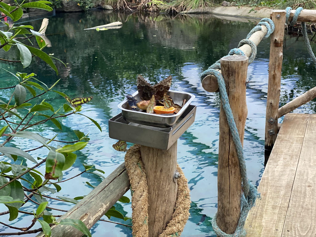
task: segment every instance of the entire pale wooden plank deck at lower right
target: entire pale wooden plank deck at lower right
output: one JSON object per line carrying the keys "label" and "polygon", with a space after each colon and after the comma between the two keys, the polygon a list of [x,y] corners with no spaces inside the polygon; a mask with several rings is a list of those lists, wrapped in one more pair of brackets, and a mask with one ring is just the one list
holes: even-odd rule
{"label": "entire pale wooden plank deck at lower right", "polygon": [[248,236],[316,236],[316,115],[287,114],[249,212]]}

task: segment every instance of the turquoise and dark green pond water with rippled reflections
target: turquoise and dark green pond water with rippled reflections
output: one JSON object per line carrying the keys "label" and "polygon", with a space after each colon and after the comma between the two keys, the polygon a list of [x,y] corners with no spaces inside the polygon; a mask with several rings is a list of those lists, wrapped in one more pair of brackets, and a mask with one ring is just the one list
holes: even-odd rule
{"label": "turquoise and dark green pond water with rippled reflections", "polygon": [[[64,173],[64,178],[83,171],[82,162],[95,164],[96,168],[105,171],[105,176],[122,163],[125,153],[112,148],[116,141],[108,137],[108,120],[120,112],[117,105],[125,98],[125,94],[132,94],[137,90],[138,74],[142,74],[152,83],[172,75],[171,89],[194,94],[196,98],[192,104],[197,105],[195,122],[178,140],[178,163],[188,179],[192,201],[191,216],[181,236],[215,236],[211,219],[217,209],[220,98],[217,93],[204,91],[199,75],[236,47],[256,23],[227,21],[210,15],[145,17],[108,14],[103,11],[57,14],[49,20],[46,35],[52,47],[46,48],[45,52],[54,53],[54,57],[66,63],[67,68],[57,63],[59,75],[56,76],[51,68],[37,58],[26,69],[17,64],[2,63],[1,67],[12,72],[34,72],[38,79],[50,85],[61,78],[57,90],[70,97],[94,96],[91,102],[83,106],[83,113],[96,120],[101,125],[102,132],[82,116],[62,119],[63,132],[50,125],[34,129],[46,137],[59,133],[59,140],[75,139],[75,136],[66,137],[65,132],[70,129],[90,133],[89,144],[78,153],[75,165]],[[83,30],[113,21],[123,22],[123,27],[99,32]],[[41,20],[27,24],[38,29]],[[270,39],[260,43],[257,58],[248,68],[250,82],[247,85],[248,117],[244,152],[249,179],[256,186],[264,170],[269,42]],[[316,50],[314,43],[312,48]],[[282,77],[280,105],[316,86],[315,67],[302,38],[288,35],[285,37]],[[8,85],[12,78],[2,71],[1,87]],[[7,96],[0,94],[0,99]],[[65,103],[64,98],[55,94],[47,97],[47,101],[54,105]],[[295,112],[315,113],[316,102],[307,103]],[[15,143],[19,143],[19,140],[16,139]],[[22,148],[37,146],[31,141],[19,145]],[[33,155],[40,156],[41,151]],[[101,180],[97,175],[83,174],[70,182],[61,183],[62,190],[52,196],[73,198],[87,195],[92,188],[85,182],[98,185]],[[130,192],[125,196],[130,197]],[[60,204],[56,201],[51,206],[68,210],[72,204]],[[23,210],[30,211],[32,208],[33,205],[28,203]],[[131,204],[117,204],[116,208],[126,216],[131,216]],[[57,211],[52,213],[61,214]],[[20,223],[29,223],[31,219],[32,217],[20,215],[12,224],[17,226]],[[7,217],[1,216],[0,221],[7,222]],[[111,218],[111,221],[131,225],[130,220],[124,222]],[[0,232],[8,231],[6,227],[0,227]],[[91,231],[95,237],[132,236],[131,228],[108,222],[97,222]]]}

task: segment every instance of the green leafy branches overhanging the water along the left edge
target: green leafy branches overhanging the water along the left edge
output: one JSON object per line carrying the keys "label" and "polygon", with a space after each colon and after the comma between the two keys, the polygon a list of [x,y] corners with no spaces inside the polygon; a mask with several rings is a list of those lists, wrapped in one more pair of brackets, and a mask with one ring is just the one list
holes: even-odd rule
{"label": "green leafy branches overhanging the water along the left edge", "polygon": [[[52,8],[47,4],[50,4],[50,2],[43,0],[17,3],[16,6],[9,6],[1,2],[0,11],[5,15],[1,16],[0,20],[6,16],[9,16],[13,21],[19,20],[23,15],[21,8],[37,8],[51,11]],[[0,30],[0,49],[2,48],[5,52],[12,48],[17,49],[20,60],[4,58],[0,58],[0,60],[21,62],[23,68],[26,68],[31,64],[33,57],[38,57],[58,74],[57,67],[52,60],[54,58],[42,51],[46,47],[46,43],[39,32],[34,31],[33,27],[29,25],[15,27],[14,24],[2,23],[6,25],[6,30]],[[30,40],[32,38],[38,47],[32,44]],[[9,214],[8,219],[11,222],[18,217],[21,212],[20,209],[27,202],[32,202],[35,207],[33,213],[22,212],[34,216],[28,227],[17,228],[9,224],[5,225],[20,230],[20,232],[11,233],[11,235],[36,233],[31,228],[36,222],[39,222],[42,228],[37,229],[37,232],[44,231],[46,236],[51,236],[52,225],[70,225],[82,231],[85,235],[91,236],[88,228],[82,221],[64,219],[56,222],[56,216],[49,212],[50,209],[54,209],[49,206],[51,199],[60,202],[78,203],[78,200],[83,198],[52,198],[50,193],[53,194],[61,190],[61,186],[58,183],[72,179],[82,173],[92,173],[104,178],[100,174],[104,173],[102,170],[96,169],[94,165],[82,164],[84,171],[74,177],[63,180],[63,172],[70,169],[75,163],[76,153],[88,144],[88,134],[85,135],[80,131],[74,130],[73,132],[77,139],[76,141],[68,142],[56,140],[58,133],[49,138],[38,134],[40,128],[47,123],[51,123],[50,125],[62,131],[63,126],[59,119],[70,115],[83,115],[80,113],[82,107],[79,105],[72,108],[68,104],[59,107],[52,106],[47,95],[58,94],[67,97],[63,92],[53,90],[59,80],[53,85],[47,86],[38,80],[34,73],[17,72],[14,74],[7,72],[14,79],[10,81],[11,85],[9,87],[0,88],[1,94],[5,95],[0,100],[0,204],[4,205],[8,211],[2,212],[0,215]],[[87,117],[86,115],[83,116]],[[96,121],[91,118],[88,119],[101,130],[100,125]],[[68,135],[68,137],[71,137],[71,135]],[[28,143],[32,145],[33,143],[38,143],[39,145],[33,149],[25,149],[25,144]],[[64,143],[69,144],[60,145]],[[33,154],[41,155],[34,157]],[[42,170],[41,167],[45,167],[45,173],[40,171]],[[127,199],[122,197],[119,201],[129,202],[129,199]],[[56,208],[54,210],[63,211]],[[106,216],[108,218],[115,216],[128,219],[115,208],[111,208],[106,213]]]}

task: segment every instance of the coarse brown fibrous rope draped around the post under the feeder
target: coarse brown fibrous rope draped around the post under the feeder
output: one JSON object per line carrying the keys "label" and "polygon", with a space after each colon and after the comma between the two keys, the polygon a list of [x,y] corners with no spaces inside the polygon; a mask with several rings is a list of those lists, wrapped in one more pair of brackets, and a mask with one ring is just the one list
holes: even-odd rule
{"label": "coarse brown fibrous rope draped around the post under the feeder", "polygon": [[[133,237],[148,236],[148,187],[141,160],[140,145],[132,146],[125,155],[125,166],[131,183]],[[189,218],[190,189],[182,169],[177,164],[181,177],[178,179],[177,200],[174,212],[166,229],[159,237],[180,236]]]}

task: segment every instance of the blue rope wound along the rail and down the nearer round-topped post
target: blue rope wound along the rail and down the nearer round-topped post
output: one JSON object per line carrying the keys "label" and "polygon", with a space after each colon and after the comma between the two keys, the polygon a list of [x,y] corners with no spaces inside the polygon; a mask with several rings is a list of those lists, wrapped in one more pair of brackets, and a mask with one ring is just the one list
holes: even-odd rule
{"label": "blue rope wound along the rail and down the nearer round-topped post", "polygon": [[[253,62],[253,60],[257,54],[257,47],[251,40],[249,40],[249,37],[252,35],[252,33],[256,32],[258,30],[261,30],[262,29],[261,25],[264,25],[265,27],[267,27],[267,33],[264,36],[264,38],[268,38],[270,36],[270,34],[273,33],[273,31],[274,31],[273,21],[271,21],[269,18],[264,18],[258,23],[258,25],[256,27],[254,27],[250,31],[250,33],[247,35],[247,39],[241,40],[239,45],[238,45],[238,47],[240,47],[244,44],[248,44],[251,46],[252,52],[251,52],[251,55],[249,57],[248,64]],[[227,56],[234,55],[234,54],[243,55],[243,56],[245,55],[244,52],[242,52],[240,49],[237,48],[237,49],[232,49],[231,51],[229,51]],[[224,56],[224,57],[227,57],[227,56]],[[217,79],[218,87],[220,89],[220,94],[221,94],[222,106],[223,106],[224,112],[226,114],[228,125],[230,128],[230,132],[232,134],[233,141],[234,141],[236,151],[237,151],[237,156],[238,156],[239,165],[240,165],[240,173],[241,173],[243,191],[242,191],[242,195],[240,197],[240,206],[241,206],[240,217],[239,217],[237,228],[236,228],[234,234],[226,234],[218,227],[218,225],[217,225],[217,212],[215,213],[215,215],[213,217],[212,227],[213,227],[213,230],[215,231],[215,233],[217,234],[217,236],[220,236],[220,237],[240,237],[240,236],[246,236],[246,231],[244,229],[246,218],[247,218],[249,210],[255,205],[256,199],[260,198],[260,193],[258,193],[256,187],[248,180],[247,170],[246,170],[246,162],[245,162],[245,157],[244,157],[238,129],[237,129],[237,126],[236,126],[236,123],[234,120],[233,112],[232,112],[230,105],[229,105],[229,100],[228,100],[228,95],[227,95],[227,91],[226,91],[226,85],[224,82],[224,78],[223,78],[222,74],[217,71],[218,69],[221,69],[220,60],[217,60],[207,70],[205,70],[201,74],[201,79],[203,80],[203,78],[207,75],[214,75]]]}

